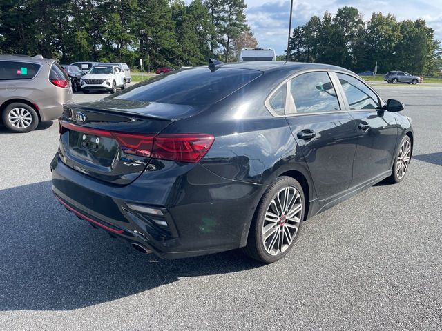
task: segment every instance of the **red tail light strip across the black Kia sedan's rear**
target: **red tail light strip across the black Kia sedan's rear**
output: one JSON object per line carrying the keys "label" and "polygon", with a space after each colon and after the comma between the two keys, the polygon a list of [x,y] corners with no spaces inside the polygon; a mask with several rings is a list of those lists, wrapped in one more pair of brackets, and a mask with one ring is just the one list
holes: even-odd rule
{"label": "red tail light strip across the black Kia sedan's rear", "polygon": [[153,157],[154,159],[196,163],[211,148],[215,137],[211,134],[140,134],[115,132],[77,126],[59,121],[60,133],[63,128],[93,134],[100,137],[113,137],[126,154]]}

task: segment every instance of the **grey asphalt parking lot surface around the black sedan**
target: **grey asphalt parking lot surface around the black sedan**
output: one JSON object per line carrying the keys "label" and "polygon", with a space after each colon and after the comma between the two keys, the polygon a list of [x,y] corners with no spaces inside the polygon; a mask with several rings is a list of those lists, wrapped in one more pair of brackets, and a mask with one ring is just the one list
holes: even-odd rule
{"label": "grey asphalt parking lot surface around the black sedan", "polygon": [[378,90],[413,120],[407,178],[310,219],[265,266],[236,251],[158,260],[111,239],[52,196],[57,123],[0,128],[0,329],[441,330],[442,88]]}

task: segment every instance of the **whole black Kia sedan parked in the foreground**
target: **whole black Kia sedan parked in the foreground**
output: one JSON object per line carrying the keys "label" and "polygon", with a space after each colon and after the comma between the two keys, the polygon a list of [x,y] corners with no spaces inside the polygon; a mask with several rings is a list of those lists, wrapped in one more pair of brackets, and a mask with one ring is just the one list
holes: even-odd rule
{"label": "whole black Kia sedan parked in the foreground", "polygon": [[305,219],[404,179],[413,131],[402,109],[336,66],[212,61],[66,106],[52,188],[142,252],[244,248],[271,263]]}

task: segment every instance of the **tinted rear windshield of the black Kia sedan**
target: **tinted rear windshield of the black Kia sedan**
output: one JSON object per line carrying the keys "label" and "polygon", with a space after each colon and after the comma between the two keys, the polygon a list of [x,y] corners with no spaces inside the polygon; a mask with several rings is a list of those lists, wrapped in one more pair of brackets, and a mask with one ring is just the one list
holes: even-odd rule
{"label": "tinted rear windshield of the black Kia sedan", "polygon": [[257,70],[209,68],[177,70],[149,79],[115,95],[115,99],[179,105],[204,105],[220,101],[232,92],[259,77]]}

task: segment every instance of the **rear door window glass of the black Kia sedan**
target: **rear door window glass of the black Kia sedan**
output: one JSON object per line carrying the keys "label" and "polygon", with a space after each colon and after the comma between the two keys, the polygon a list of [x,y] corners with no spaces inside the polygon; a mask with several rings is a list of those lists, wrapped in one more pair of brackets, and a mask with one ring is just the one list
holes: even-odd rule
{"label": "rear door window glass of the black Kia sedan", "polygon": [[338,98],[327,72],[300,74],[290,82],[297,113],[340,110]]}

